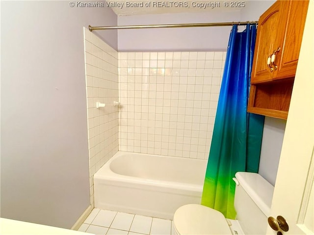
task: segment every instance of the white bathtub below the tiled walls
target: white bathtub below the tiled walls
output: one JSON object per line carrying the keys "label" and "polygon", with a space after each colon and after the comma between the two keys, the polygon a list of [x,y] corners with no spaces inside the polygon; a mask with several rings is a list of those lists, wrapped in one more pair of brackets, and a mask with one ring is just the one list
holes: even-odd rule
{"label": "white bathtub below the tiled walls", "polygon": [[117,152],[94,175],[95,208],[173,219],[200,204],[207,160]]}

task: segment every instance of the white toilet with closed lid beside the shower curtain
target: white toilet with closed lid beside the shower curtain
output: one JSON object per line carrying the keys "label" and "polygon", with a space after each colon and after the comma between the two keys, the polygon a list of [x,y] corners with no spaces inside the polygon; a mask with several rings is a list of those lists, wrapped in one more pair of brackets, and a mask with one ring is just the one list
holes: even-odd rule
{"label": "white toilet with closed lid beside the shower curtain", "polygon": [[173,225],[177,235],[262,235],[266,234],[267,217],[274,186],[261,175],[250,172],[235,174],[236,220],[209,207],[188,204],[176,210]]}

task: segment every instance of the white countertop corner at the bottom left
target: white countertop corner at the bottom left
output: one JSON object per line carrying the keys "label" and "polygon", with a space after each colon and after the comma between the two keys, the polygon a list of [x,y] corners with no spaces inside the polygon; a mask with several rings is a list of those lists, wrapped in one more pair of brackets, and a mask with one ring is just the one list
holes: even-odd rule
{"label": "white countertop corner at the bottom left", "polygon": [[1,235],[92,235],[69,229],[0,218]]}

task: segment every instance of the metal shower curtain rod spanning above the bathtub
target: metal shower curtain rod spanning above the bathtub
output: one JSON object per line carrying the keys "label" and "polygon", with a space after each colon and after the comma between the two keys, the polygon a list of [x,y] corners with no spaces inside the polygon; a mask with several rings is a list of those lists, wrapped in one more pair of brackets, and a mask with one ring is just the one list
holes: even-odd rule
{"label": "metal shower curtain rod spanning above the bathtub", "polygon": [[196,24],[175,24],[175,25],[142,25],[142,26],[88,26],[89,31],[105,29],[135,29],[135,28],[183,28],[183,27],[209,27],[209,26],[244,26],[247,24],[258,24],[258,21],[246,22],[223,22],[223,23],[196,23]]}

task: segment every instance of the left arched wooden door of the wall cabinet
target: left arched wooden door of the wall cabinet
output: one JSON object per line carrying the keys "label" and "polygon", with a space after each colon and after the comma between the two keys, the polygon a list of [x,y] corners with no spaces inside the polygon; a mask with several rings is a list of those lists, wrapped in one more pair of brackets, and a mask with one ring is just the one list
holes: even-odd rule
{"label": "left arched wooden door of the wall cabinet", "polygon": [[283,37],[276,35],[285,34],[283,15],[288,12],[289,1],[276,1],[259,19],[257,39],[255,45],[251,82],[257,83],[270,81],[273,72],[267,66],[267,58],[281,45]]}

